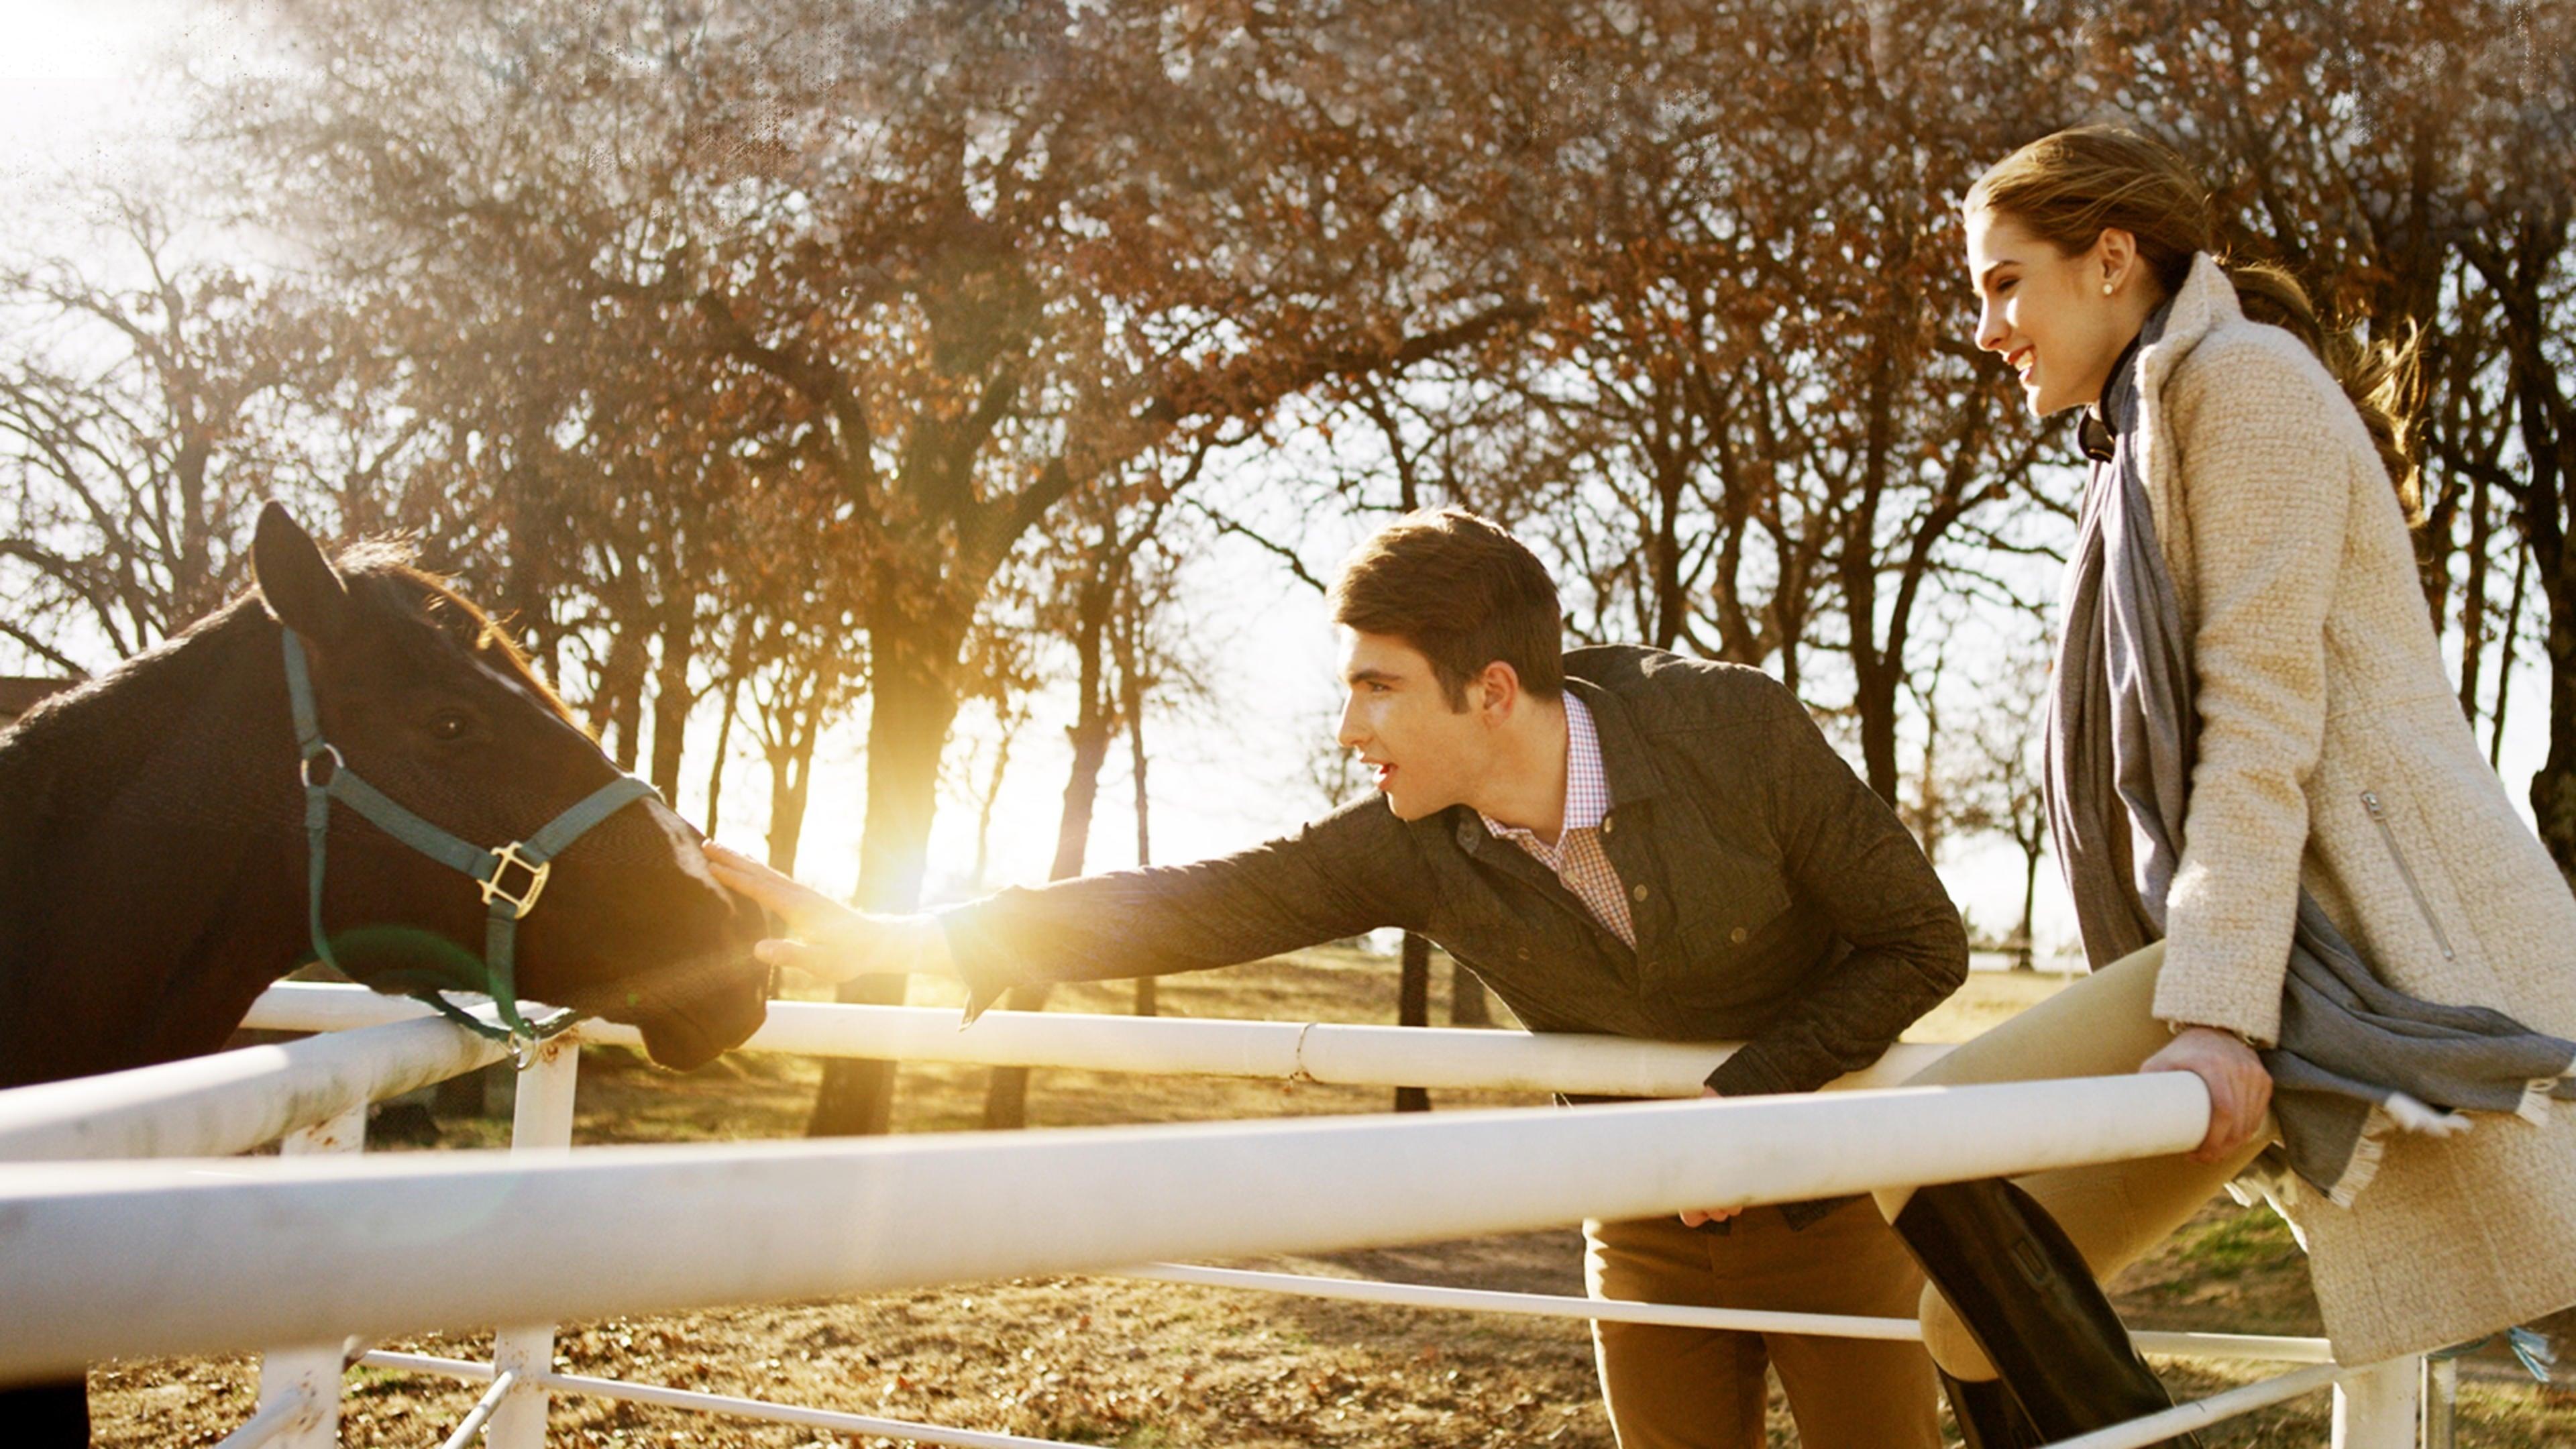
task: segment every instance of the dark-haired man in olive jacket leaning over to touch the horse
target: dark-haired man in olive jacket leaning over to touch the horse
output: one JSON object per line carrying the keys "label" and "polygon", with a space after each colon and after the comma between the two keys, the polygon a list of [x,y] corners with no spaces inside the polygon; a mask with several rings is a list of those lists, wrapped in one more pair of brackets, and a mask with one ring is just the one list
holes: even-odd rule
{"label": "dark-haired man in olive jacket leaning over to touch the horse", "polygon": [[[1252,962],[1378,926],[1468,964],[1530,1031],[1744,1039],[1710,1096],[1816,1091],[1968,972],[1896,815],[1770,676],[1641,647],[1558,652],[1556,585],[1507,531],[1414,513],[1332,593],[1342,745],[1378,799],[1218,861],[858,915],[711,851],[778,910],[775,964],[940,969],[969,1013],[1041,980]],[[1587,1222],[1595,1297],[1906,1318],[1922,1276],[1865,1199]],[[1935,1449],[1917,1343],[1597,1323],[1625,1449],[1752,1449],[1780,1369],[1808,1449]]]}

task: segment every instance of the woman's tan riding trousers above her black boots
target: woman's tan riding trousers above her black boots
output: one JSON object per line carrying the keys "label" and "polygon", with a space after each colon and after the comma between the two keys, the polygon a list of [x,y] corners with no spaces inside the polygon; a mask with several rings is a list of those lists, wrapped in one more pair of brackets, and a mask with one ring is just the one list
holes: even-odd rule
{"label": "woman's tan riding trousers above her black boots", "polygon": [[[2156,1021],[2156,972],[2164,944],[2069,985],[2012,1021],[1965,1042],[1906,1085],[2020,1083],[2043,1078],[2110,1078],[2136,1073],[2174,1031]],[[2097,1279],[2143,1258],[2190,1222],[2272,1140],[2269,1124],[2218,1163],[2190,1155],[2138,1158],[2097,1168],[2061,1168],[2014,1178],[2066,1227]],[[1888,1220],[1911,1191],[1878,1194]],[[1991,1379],[1994,1364],[1929,1284],[1922,1289],[1924,1346],[1955,1379]]]}

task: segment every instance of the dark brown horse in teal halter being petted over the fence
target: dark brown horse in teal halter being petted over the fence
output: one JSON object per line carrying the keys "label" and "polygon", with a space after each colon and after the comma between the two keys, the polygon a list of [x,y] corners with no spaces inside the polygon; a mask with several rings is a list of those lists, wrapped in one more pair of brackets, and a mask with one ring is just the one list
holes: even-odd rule
{"label": "dark brown horse in teal halter being petted over the fence", "polygon": [[[526,841],[618,771],[520,652],[397,552],[332,567],[270,503],[258,590],[0,732],[0,1088],[214,1052],[314,957],[283,629],[348,771],[461,835]],[[379,990],[479,964],[477,884],[332,807],[322,923]],[[518,990],[696,1067],[760,1026],[760,913],[659,799],[608,815],[518,928]],[[399,982],[399,985],[397,985]],[[85,1444],[82,1385],[0,1390],[0,1441]]]}

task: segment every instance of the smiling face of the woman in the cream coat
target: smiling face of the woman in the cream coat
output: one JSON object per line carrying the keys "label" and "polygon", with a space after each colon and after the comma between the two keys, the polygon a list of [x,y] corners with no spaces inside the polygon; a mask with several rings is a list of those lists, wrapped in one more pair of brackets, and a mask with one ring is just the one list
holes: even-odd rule
{"label": "smiling face of the woman in the cream coat", "polygon": [[2099,400],[2110,366],[2156,309],[2136,240],[2107,229],[2066,255],[2014,217],[1978,206],[1965,222],[1976,345],[2012,364],[2040,418]]}

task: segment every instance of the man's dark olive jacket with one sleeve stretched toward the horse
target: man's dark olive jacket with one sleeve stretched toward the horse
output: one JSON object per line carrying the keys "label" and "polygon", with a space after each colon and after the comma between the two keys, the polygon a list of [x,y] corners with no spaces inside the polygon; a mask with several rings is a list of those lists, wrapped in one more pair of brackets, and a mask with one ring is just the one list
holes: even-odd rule
{"label": "man's dark olive jacket with one sleeve stretched toward the horse", "polygon": [[1592,709],[1636,949],[1453,807],[1368,797],[1236,856],[1005,890],[945,913],[976,1003],[1020,982],[1188,972],[1401,926],[1530,1031],[1747,1042],[1708,1083],[1814,1091],[1878,1060],[1968,969],[1922,848],[1762,670],[1662,650],[1566,655]]}

